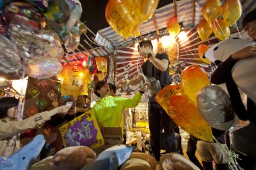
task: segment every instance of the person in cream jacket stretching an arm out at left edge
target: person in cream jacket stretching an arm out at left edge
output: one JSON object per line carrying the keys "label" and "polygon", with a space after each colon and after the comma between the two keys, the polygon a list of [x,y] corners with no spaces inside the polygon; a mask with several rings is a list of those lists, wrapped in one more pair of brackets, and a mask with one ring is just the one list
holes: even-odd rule
{"label": "person in cream jacket stretching an arm out at left edge", "polygon": [[37,125],[51,120],[51,116],[68,112],[69,106],[62,105],[50,111],[34,114],[22,121],[16,121],[18,116],[18,99],[15,97],[0,97],[0,156],[9,157],[20,149],[20,140],[9,140],[26,130],[36,128]]}

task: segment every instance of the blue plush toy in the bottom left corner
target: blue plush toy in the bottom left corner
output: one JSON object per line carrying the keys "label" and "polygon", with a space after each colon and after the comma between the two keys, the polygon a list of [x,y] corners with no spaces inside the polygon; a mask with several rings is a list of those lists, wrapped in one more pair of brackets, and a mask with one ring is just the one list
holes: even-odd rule
{"label": "blue plush toy in the bottom left corner", "polygon": [[1,170],[27,170],[38,157],[45,140],[42,134],[39,134],[30,143],[26,144],[19,151],[13,153],[3,163],[3,157],[0,157],[0,169]]}

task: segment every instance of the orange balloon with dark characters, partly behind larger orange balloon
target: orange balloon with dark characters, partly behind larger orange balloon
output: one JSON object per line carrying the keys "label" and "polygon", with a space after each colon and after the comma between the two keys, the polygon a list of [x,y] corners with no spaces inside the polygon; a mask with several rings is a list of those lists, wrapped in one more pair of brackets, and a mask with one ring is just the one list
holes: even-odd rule
{"label": "orange balloon with dark characters, partly behind larger orange balloon", "polygon": [[183,93],[183,88],[179,84],[167,85],[163,89],[161,89],[156,94],[156,101],[162,106],[162,108],[168,112],[167,110],[167,101],[172,95]]}

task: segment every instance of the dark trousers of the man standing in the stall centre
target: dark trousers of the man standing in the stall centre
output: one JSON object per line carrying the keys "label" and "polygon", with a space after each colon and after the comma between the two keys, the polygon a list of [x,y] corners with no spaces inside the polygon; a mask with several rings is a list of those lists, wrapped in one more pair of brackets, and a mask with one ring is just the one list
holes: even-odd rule
{"label": "dark trousers of the man standing in the stall centre", "polygon": [[166,153],[175,152],[175,124],[153,97],[148,104],[148,121],[150,126],[150,145],[157,161],[160,160],[160,132],[164,129]]}

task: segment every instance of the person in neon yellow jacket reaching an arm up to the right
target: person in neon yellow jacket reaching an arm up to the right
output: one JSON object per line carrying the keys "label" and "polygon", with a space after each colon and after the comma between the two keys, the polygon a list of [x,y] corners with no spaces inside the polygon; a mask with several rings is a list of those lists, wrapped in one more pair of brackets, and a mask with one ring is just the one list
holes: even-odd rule
{"label": "person in neon yellow jacket reaching an arm up to the right", "polygon": [[98,123],[103,127],[121,127],[123,132],[123,109],[134,108],[141,100],[141,96],[149,83],[145,83],[133,98],[109,95],[110,89],[105,81],[97,81],[94,93],[100,97],[92,110]]}

